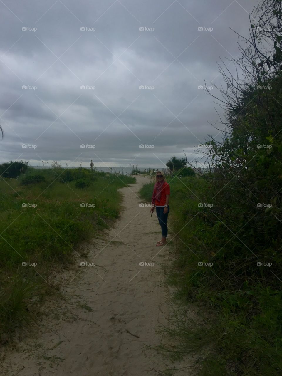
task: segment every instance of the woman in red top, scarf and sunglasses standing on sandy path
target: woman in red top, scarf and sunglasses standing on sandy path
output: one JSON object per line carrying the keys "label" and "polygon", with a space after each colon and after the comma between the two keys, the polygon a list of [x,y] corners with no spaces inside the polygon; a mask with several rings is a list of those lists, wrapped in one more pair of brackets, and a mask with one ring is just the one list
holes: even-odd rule
{"label": "woman in red top, scarf and sunglasses standing on sandy path", "polygon": [[155,206],[159,224],[162,229],[162,240],[158,241],[157,247],[167,244],[167,217],[170,212],[170,207],[168,205],[170,197],[170,186],[165,179],[164,173],[157,171],[155,185],[152,195],[152,208],[151,213],[153,213]]}

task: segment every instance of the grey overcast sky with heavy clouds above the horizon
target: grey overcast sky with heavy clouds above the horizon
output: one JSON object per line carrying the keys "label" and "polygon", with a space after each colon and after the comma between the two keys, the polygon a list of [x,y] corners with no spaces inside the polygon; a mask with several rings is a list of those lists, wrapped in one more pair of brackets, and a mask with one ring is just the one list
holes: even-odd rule
{"label": "grey overcast sky with heavy clouds above the horizon", "polygon": [[221,139],[208,122],[223,109],[198,86],[224,85],[220,58],[239,54],[230,28],[248,36],[257,4],[1,1],[0,162],[165,167],[183,150],[192,161],[208,134]]}

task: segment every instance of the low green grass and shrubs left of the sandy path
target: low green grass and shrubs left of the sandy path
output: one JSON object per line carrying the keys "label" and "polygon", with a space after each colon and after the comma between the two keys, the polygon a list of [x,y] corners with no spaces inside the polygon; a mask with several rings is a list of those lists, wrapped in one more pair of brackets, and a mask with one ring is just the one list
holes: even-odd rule
{"label": "low green grass and shrubs left of the sandy path", "polygon": [[76,252],[86,256],[79,244],[118,218],[117,190],[135,182],[134,177],[84,168],[24,167],[25,173],[9,164],[0,171],[4,168],[17,174],[0,179],[2,338],[36,321],[38,307],[55,293],[53,271],[68,268]]}

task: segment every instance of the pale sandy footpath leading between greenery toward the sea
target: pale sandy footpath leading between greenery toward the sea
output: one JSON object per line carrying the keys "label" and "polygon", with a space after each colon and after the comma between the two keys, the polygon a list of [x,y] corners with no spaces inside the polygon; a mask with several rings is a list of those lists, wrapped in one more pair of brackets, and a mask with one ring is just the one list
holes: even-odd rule
{"label": "pale sandy footpath leading between greenery toward the sea", "polygon": [[[145,376],[166,368],[161,354],[144,349],[144,344],[159,344],[155,329],[169,309],[160,268],[168,247],[155,246],[161,238],[158,220],[155,213],[150,217],[150,208],[139,207],[137,197],[146,181],[140,176],[121,188],[121,218],[87,258],[96,266],[79,267],[78,276],[76,270],[63,289],[65,306],[45,305],[46,321],[37,335],[24,334],[17,350],[6,352],[2,374]],[[141,261],[155,265],[139,266]]]}

